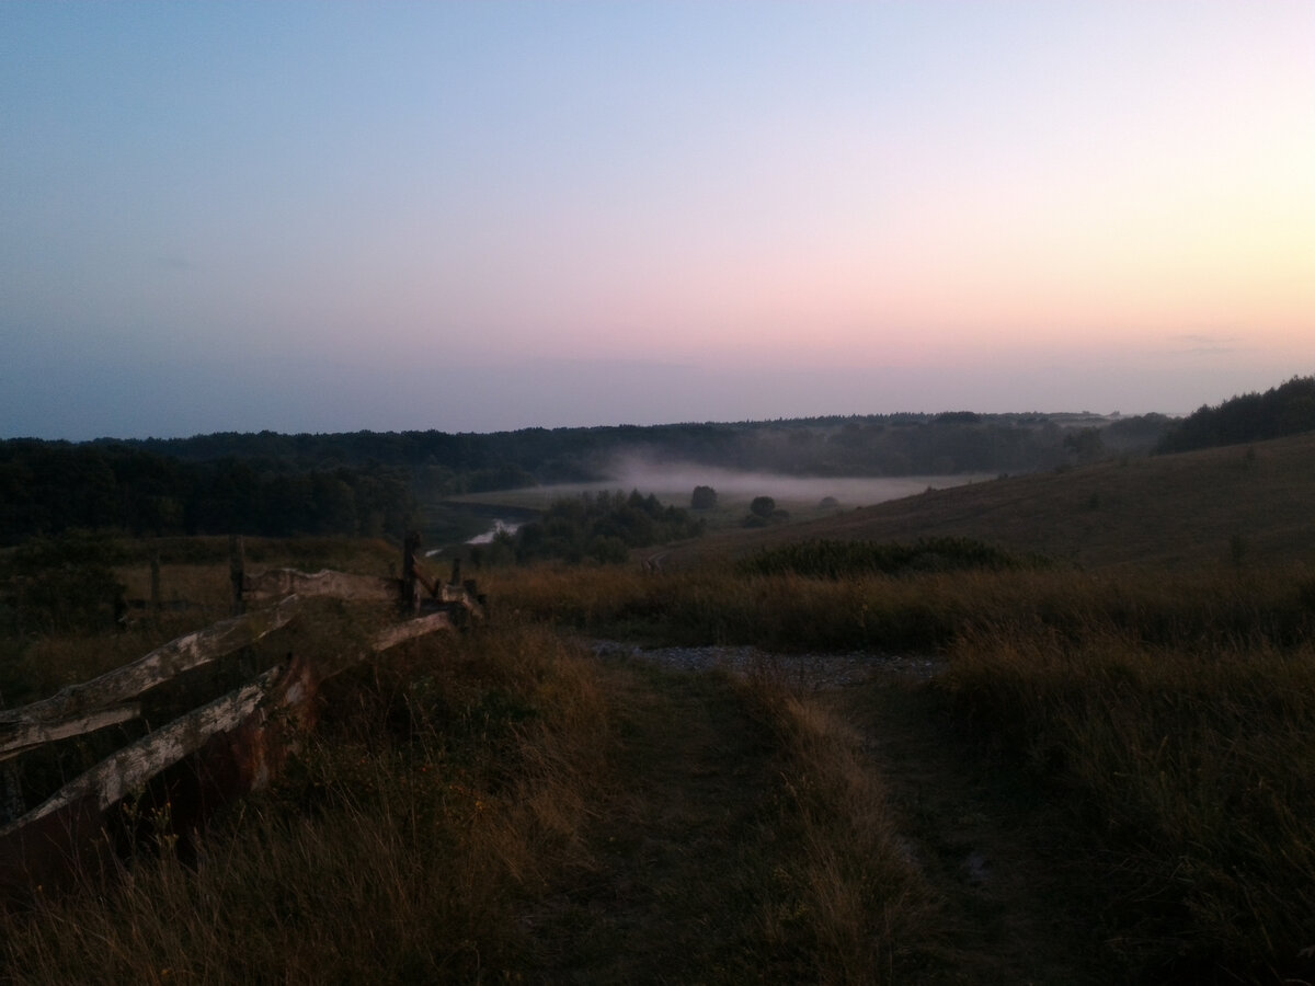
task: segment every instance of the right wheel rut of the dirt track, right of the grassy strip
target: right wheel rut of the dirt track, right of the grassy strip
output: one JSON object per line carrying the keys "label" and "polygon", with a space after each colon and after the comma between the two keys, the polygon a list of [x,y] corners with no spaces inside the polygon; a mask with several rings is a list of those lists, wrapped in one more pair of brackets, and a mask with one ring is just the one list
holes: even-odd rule
{"label": "right wheel rut of the dirt track, right of the grassy strip", "polygon": [[926,685],[899,673],[822,697],[861,731],[910,851],[944,902],[943,982],[1119,982],[1074,899],[1059,819],[1015,768],[957,735]]}

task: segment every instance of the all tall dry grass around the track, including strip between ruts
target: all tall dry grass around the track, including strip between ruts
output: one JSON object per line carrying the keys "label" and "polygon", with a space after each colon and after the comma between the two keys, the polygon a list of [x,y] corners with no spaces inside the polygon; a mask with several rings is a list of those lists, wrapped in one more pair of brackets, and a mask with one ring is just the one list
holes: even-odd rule
{"label": "all tall dry grass around the track, including strip between ruts", "polygon": [[[0,918],[8,979],[542,969],[526,915],[558,907],[579,882],[564,874],[598,872],[614,851],[609,818],[634,820],[604,811],[633,797],[617,735],[630,699],[569,642],[577,634],[939,652],[948,670],[934,688],[953,722],[1011,751],[1069,809],[1053,837],[1098,872],[1081,897],[1103,902],[1093,924],[1135,977],[1315,979],[1302,958],[1315,947],[1307,568],[819,578],[542,567],[484,581],[494,627],[337,678],[295,769],[204,836],[193,869],[146,853],[116,882]],[[75,646],[49,640],[25,657],[76,657],[60,647]],[[935,936],[935,908],[880,778],[843,724],[768,678],[740,689],[772,736],[776,809],[752,860],[725,853],[743,872],[722,885],[764,890],[759,944],[789,968],[899,978]]]}

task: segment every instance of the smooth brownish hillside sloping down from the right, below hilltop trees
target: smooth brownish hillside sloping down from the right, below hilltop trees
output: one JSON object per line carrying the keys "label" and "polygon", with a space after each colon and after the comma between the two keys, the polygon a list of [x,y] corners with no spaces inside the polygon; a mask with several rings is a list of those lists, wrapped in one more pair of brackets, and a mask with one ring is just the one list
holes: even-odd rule
{"label": "smooth brownish hillside sloping down from the right, below hilltop trees", "polygon": [[1315,564],[1315,434],[980,482],[759,531],[673,559],[811,538],[967,536],[1082,567]]}

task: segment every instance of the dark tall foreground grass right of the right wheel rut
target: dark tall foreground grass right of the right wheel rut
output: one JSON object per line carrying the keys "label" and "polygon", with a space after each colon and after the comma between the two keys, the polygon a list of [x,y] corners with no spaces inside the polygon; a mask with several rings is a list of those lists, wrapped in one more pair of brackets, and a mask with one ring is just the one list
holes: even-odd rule
{"label": "dark tall foreground grass right of the right wheel rut", "polygon": [[1106,860],[1111,945],[1155,979],[1308,975],[1315,648],[1222,639],[961,639],[955,710],[1064,791]]}

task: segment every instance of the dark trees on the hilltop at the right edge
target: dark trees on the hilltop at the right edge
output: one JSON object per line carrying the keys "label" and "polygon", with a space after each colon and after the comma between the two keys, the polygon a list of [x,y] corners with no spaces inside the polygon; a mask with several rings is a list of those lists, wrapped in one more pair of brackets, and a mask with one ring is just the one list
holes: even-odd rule
{"label": "dark trees on the hilltop at the right edge", "polygon": [[1202,405],[1160,439],[1160,452],[1264,442],[1315,431],[1315,377],[1294,376],[1265,393],[1247,393],[1214,408]]}

